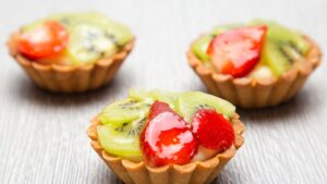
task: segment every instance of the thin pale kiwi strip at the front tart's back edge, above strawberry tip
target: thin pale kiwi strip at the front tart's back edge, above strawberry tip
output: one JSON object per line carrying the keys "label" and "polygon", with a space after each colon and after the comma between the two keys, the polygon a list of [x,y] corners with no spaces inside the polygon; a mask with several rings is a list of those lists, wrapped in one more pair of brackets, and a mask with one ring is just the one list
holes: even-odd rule
{"label": "thin pale kiwi strip at the front tart's back edge, above strawberry tip", "polygon": [[165,90],[143,90],[143,89],[130,89],[129,95],[131,98],[137,100],[148,100],[155,101],[159,100],[162,102],[167,102],[172,109],[174,109],[175,101],[178,100],[179,94],[172,91],[165,91]]}

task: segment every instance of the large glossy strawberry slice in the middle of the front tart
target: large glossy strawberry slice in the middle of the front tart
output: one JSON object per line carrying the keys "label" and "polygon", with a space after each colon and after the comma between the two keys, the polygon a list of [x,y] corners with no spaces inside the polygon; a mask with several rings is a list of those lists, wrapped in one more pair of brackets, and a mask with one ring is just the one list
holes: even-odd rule
{"label": "large glossy strawberry slice in the middle of the front tart", "polygon": [[197,139],[169,105],[156,101],[140,135],[145,160],[154,167],[185,164],[197,151]]}

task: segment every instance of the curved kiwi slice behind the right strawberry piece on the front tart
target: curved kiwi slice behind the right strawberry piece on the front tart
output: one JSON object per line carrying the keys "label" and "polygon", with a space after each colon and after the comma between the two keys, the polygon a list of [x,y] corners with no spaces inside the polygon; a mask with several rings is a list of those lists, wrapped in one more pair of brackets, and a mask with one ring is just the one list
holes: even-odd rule
{"label": "curved kiwi slice behind the right strawberry piece on the front tart", "polygon": [[235,113],[235,107],[232,103],[213,95],[201,91],[187,91],[179,96],[177,112],[187,122],[192,121],[196,110],[203,108],[215,109],[228,118],[232,118]]}

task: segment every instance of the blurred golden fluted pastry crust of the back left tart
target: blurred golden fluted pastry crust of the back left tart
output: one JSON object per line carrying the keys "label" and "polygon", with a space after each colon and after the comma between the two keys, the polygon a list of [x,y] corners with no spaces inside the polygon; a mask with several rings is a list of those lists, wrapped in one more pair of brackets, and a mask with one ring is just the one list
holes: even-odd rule
{"label": "blurred golden fluted pastry crust of the back left tart", "polygon": [[68,66],[56,63],[40,64],[28,60],[17,51],[17,33],[13,34],[8,41],[10,54],[37,86],[49,91],[63,94],[84,93],[109,83],[132,51],[135,40],[133,38],[121,51],[111,57],[99,59],[94,64]]}

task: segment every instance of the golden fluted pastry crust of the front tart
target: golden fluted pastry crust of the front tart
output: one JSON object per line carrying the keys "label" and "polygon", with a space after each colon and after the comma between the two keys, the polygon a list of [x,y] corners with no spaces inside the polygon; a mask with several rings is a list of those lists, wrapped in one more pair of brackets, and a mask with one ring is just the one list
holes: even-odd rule
{"label": "golden fluted pastry crust of the front tart", "polygon": [[226,151],[206,161],[191,162],[185,165],[173,164],[150,168],[144,161],[135,163],[107,154],[98,142],[96,126],[99,123],[97,118],[95,118],[88,127],[87,135],[92,139],[90,145],[125,184],[208,184],[219,174],[244,143],[244,125],[240,121],[240,116],[234,114],[232,124],[235,140]]}

